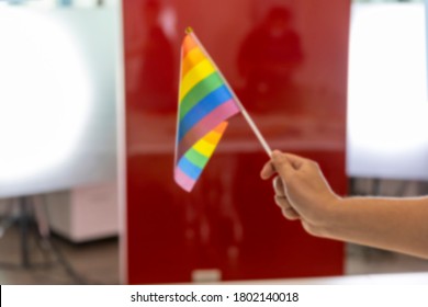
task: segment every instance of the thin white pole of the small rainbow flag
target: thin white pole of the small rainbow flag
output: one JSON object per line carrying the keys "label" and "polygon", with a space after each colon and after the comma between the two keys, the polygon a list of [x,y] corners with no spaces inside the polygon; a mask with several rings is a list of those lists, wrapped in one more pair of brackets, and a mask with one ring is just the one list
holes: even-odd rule
{"label": "thin white pole of the small rainbow flag", "polygon": [[226,78],[224,78],[222,71],[218,69],[217,65],[215,64],[215,61],[212,59],[212,57],[210,56],[210,54],[205,50],[204,46],[201,44],[201,42],[198,39],[196,35],[194,34],[193,30],[189,26],[185,29],[185,33],[191,35],[194,41],[198,43],[198,45],[201,47],[202,52],[205,54],[205,56],[211,60],[211,62],[214,65],[214,68],[217,70],[218,75],[221,76],[221,78],[224,80],[227,89],[230,91],[233,98],[234,98],[234,101],[235,103],[238,105],[240,112],[243,113],[244,115],[244,118],[247,121],[248,125],[250,126],[250,128],[252,129],[252,132],[255,133],[257,139],[260,141],[261,146],[263,147],[266,154],[268,154],[269,157],[271,157],[272,155],[272,150],[270,149],[268,143],[266,141],[264,137],[261,135],[259,128],[256,126],[255,122],[252,121],[251,116],[248,114],[247,110],[245,110],[243,103],[240,102],[240,100],[238,99],[238,96],[236,95],[236,93],[234,92],[234,90],[232,89],[230,84],[227,82]]}

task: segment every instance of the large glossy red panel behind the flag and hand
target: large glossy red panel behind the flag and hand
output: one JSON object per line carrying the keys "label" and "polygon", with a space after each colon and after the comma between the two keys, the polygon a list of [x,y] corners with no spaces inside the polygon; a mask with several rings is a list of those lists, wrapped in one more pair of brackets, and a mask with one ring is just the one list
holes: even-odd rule
{"label": "large glossy red panel behind the flag and hand", "polygon": [[[283,3],[286,3],[283,4]],[[191,25],[275,149],[313,158],[347,190],[349,0],[123,1],[126,282],[338,275],[343,245],[285,220],[241,116],[189,194],[172,180],[180,43]]]}

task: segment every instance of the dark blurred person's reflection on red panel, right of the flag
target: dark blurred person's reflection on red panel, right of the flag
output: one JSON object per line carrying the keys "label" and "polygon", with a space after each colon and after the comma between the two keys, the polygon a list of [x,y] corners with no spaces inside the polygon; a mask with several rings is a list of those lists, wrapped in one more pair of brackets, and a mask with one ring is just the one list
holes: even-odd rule
{"label": "dark blurred person's reflection on red panel, right of the flag", "polygon": [[278,96],[291,90],[293,75],[302,61],[301,41],[293,29],[290,10],[272,8],[244,39],[239,50],[238,70],[245,78],[246,99],[266,103],[263,96]]}

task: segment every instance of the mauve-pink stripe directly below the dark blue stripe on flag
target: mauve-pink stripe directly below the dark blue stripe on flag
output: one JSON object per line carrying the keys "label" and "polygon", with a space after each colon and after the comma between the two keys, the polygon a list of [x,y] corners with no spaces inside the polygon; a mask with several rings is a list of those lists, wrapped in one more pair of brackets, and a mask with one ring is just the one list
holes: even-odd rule
{"label": "mauve-pink stripe directly below the dark blue stripe on flag", "polygon": [[181,157],[190,147],[192,147],[200,138],[204,137],[210,130],[215,128],[218,123],[229,118],[239,112],[234,100],[229,100],[209,115],[206,115],[203,120],[201,120],[196,125],[194,125],[188,134],[181,139],[178,145],[178,157]]}

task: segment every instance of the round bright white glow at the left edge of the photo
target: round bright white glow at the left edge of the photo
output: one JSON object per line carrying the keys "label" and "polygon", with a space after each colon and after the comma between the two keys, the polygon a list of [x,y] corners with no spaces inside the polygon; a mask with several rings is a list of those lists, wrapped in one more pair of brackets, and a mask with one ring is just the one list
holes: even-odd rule
{"label": "round bright white glow at the left edge of the photo", "polygon": [[92,84],[72,34],[47,14],[3,9],[0,39],[0,182],[13,182],[72,154]]}

